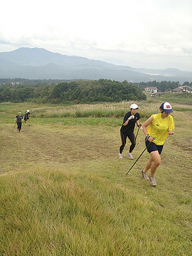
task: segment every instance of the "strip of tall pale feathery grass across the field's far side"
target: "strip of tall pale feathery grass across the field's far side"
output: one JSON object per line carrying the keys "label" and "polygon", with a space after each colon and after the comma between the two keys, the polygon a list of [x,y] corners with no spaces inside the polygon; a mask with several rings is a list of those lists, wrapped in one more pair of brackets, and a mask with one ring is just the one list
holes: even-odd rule
{"label": "strip of tall pale feathery grass across the field's far side", "polygon": [[[154,99],[152,99],[154,100]],[[167,99],[161,99],[161,101]],[[159,112],[159,102],[136,102],[139,106],[138,112],[141,118]],[[172,103],[172,102],[171,102]],[[32,118],[123,118],[130,109],[132,102],[103,103],[103,104],[76,104],[73,106],[63,106],[51,104],[0,104],[0,116],[7,119],[10,115],[15,115],[17,111],[30,109]],[[191,105],[180,106],[173,103],[174,111],[192,111]],[[13,108],[12,108],[13,106]],[[15,108],[17,106],[17,108]]]}

